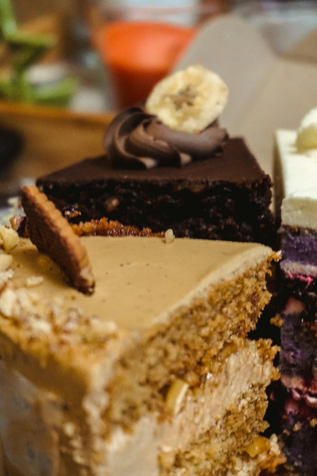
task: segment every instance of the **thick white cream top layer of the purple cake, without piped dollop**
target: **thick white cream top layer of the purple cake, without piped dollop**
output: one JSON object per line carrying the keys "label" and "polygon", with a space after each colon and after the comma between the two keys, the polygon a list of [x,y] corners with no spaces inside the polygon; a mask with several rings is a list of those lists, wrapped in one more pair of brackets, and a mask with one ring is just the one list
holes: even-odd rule
{"label": "thick white cream top layer of the purple cake, without piped dollop", "polygon": [[317,230],[317,149],[299,153],[296,139],[295,130],[276,133],[284,192],[282,224]]}

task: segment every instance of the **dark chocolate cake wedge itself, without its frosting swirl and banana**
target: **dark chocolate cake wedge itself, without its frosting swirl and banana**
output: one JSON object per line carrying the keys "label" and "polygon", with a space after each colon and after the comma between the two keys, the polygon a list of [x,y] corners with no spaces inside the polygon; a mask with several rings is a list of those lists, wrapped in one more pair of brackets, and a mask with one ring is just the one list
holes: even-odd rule
{"label": "dark chocolate cake wedge itself, without its frosting swirl and banana", "polygon": [[[77,221],[106,216],[123,225],[172,228],[177,237],[275,243],[271,180],[243,139],[228,139],[210,159],[184,167],[114,168],[86,159],[37,181]],[[66,217],[67,218],[67,217]]]}

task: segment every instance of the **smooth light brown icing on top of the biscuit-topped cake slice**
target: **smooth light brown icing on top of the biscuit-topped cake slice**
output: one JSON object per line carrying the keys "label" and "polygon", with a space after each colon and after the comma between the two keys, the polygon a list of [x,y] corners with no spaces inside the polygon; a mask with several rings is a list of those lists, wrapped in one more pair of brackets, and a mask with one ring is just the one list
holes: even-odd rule
{"label": "smooth light brown icing on top of the biscuit-topped cake slice", "polygon": [[41,300],[62,298],[63,308],[79,307],[120,329],[138,331],[168,318],[177,307],[210,285],[256,266],[270,248],[251,243],[163,238],[81,238],[96,278],[93,296],[70,288],[59,268],[40,255],[28,239],[12,251],[13,286],[42,276],[34,291]]}

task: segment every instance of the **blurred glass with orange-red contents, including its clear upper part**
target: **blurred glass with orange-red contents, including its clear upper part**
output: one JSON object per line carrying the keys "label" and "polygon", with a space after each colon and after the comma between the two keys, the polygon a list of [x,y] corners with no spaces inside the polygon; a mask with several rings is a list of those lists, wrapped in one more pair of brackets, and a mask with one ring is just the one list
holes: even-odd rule
{"label": "blurred glass with orange-red contents, including its clear upper part", "polygon": [[146,99],[196,34],[198,0],[87,0],[86,5],[116,109]]}

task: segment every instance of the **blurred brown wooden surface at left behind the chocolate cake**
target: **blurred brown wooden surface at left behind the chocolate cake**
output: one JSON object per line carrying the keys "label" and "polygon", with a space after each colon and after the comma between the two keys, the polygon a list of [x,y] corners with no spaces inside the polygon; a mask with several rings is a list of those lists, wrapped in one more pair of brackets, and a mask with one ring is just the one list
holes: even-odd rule
{"label": "blurred brown wooden surface at left behind the chocolate cake", "polygon": [[103,134],[112,117],[111,113],[82,114],[0,101],[0,125],[19,131],[24,139],[22,152],[2,179],[36,178],[86,157],[102,155]]}

